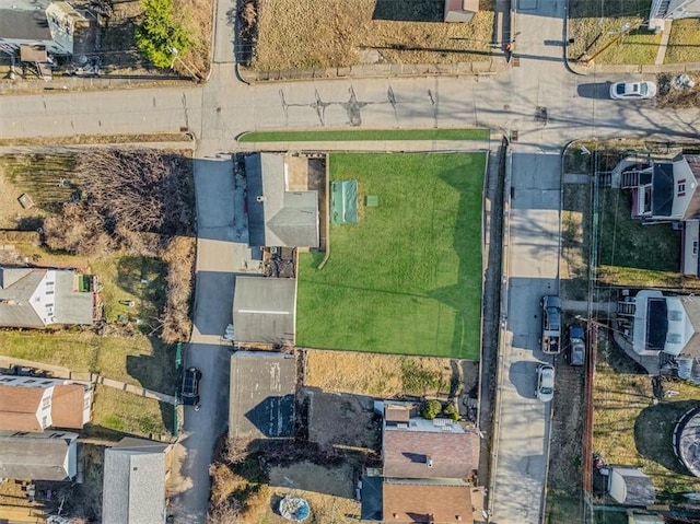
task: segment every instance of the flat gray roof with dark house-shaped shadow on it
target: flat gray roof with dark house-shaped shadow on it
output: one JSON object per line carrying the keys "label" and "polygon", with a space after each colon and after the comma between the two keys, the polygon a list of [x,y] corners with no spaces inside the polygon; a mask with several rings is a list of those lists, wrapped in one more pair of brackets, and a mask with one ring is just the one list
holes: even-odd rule
{"label": "flat gray roof with dark house-shaped shadow on it", "polygon": [[272,351],[233,353],[229,436],[293,436],[295,392],[294,356]]}

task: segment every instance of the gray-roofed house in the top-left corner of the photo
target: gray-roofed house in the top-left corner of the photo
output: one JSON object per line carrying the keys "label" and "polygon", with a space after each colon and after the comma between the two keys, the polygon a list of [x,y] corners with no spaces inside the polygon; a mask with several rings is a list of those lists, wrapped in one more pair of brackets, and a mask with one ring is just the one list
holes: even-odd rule
{"label": "gray-roofed house in the top-left corner of the photo", "polygon": [[0,47],[38,45],[51,55],[72,55],[75,30],[88,23],[68,2],[0,0]]}

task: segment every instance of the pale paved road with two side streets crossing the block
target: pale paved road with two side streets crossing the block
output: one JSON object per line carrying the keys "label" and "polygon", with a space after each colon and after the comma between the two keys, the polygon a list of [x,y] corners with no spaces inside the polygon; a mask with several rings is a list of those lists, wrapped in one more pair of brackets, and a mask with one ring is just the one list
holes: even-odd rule
{"label": "pale paved road with two side streets crossing the block", "polygon": [[[202,409],[185,414],[185,474],[191,488],[174,502],[177,521],[203,522],[212,444],[226,426],[228,348],[234,276],[255,271],[246,247],[231,151],[237,133],[272,128],[489,127],[518,131],[512,156],[509,310],[492,522],[537,523],[549,441],[549,406],[534,399],[536,306],[557,291],[562,145],[585,137],[696,137],[700,109],[656,110],[653,102],[596,97],[618,78],[575,77],[562,61],[563,0],[520,0],[513,34],[520,67],[488,78],[366,79],[270,83],[237,81],[233,36],[219,0],[214,66],[203,86],[51,92],[0,97],[3,138],[141,133],[188,127],[197,137],[199,220],[195,333],[188,365],[203,373]],[[546,4],[546,5],[545,5]],[[530,9],[532,8],[532,9]],[[520,33],[520,34],[518,34]],[[630,78],[637,78],[631,75]],[[597,85],[597,88],[596,88]],[[547,108],[547,121],[536,118]],[[400,144],[399,144],[400,145]]]}

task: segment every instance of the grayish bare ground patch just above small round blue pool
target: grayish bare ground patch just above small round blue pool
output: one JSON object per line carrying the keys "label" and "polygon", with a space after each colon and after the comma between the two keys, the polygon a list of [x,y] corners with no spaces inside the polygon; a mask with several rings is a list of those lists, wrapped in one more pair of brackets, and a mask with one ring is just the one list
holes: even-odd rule
{"label": "grayish bare ground patch just above small round blue pool", "polygon": [[353,498],[355,471],[349,464],[332,468],[308,462],[270,469],[270,486]]}

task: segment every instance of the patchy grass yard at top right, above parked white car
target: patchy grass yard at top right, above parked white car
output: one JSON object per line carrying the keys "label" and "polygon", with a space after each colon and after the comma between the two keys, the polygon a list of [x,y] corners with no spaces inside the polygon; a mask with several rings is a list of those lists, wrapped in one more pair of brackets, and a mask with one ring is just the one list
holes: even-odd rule
{"label": "patchy grass yard at top right, above parked white car", "polygon": [[593,56],[620,35],[625,24],[631,31],[595,58],[596,63],[654,63],[661,33],[654,35],[640,24],[649,16],[652,0],[592,2],[570,0],[568,46],[570,59],[584,53]]}

